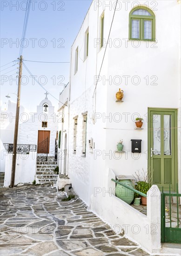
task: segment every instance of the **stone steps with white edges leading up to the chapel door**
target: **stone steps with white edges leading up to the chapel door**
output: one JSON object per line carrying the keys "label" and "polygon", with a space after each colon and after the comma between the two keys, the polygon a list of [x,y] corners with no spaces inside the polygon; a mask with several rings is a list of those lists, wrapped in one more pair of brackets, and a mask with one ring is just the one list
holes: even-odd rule
{"label": "stone steps with white edges leading up to the chapel door", "polygon": [[56,183],[58,175],[54,172],[57,162],[37,162],[36,183]]}

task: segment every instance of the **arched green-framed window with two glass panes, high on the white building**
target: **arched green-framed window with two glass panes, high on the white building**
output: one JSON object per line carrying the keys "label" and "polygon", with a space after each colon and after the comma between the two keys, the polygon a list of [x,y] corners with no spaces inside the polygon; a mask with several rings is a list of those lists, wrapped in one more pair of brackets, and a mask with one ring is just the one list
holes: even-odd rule
{"label": "arched green-framed window with two glass panes, high on the white building", "polygon": [[155,15],[147,7],[134,7],[129,13],[129,39],[155,40]]}

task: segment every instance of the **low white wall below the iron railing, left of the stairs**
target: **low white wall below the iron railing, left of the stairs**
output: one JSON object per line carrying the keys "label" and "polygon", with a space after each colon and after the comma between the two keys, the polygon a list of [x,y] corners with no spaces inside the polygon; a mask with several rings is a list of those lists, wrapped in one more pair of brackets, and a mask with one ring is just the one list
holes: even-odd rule
{"label": "low white wall below the iron railing, left of the stairs", "polygon": [[[36,152],[29,152],[29,155],[19,155],[16,157],[16,172],[14,184],[34,181],[36,174]],[[6,156],[4,187],[11,183],[12,154]]]}

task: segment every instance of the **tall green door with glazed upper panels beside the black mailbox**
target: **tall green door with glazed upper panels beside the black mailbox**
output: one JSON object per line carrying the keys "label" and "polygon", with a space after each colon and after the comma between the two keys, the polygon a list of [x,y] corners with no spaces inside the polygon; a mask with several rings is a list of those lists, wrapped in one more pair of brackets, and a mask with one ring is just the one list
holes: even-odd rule
{"label": "tall green door with glazed upper panels beside the black mailbox", "polygon": [[148,108],[148,167],[152,184],[175,192],[177,109]]}

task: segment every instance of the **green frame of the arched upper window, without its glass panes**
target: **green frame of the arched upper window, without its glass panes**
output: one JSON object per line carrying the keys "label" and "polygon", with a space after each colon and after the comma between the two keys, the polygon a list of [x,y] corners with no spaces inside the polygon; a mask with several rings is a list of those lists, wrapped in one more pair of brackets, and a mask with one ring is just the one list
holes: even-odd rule
{"label": "green frame of the arched upper window, without its glass panes", "polygon": [[[146,10],[149,12],[151,15],[134,15],[134,11],[136,10]],[[139,38],[132,38],[132,21],[133,20],[139,20]],[[144,38],[144,21],[149,20],[152,23],[152,30],[151,30],[151,39],[145,39]],[[152,10],[145,6],[139,6],[139,7],[134,7],[131,12],[129,13],[129,40],[143,40],[143,41],[155,41],[155,15]]]}

